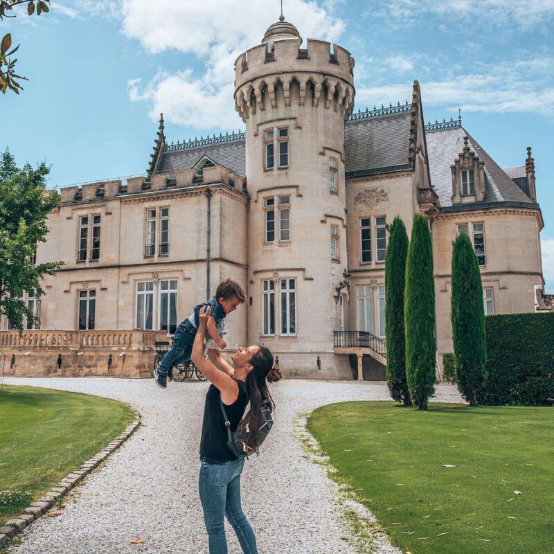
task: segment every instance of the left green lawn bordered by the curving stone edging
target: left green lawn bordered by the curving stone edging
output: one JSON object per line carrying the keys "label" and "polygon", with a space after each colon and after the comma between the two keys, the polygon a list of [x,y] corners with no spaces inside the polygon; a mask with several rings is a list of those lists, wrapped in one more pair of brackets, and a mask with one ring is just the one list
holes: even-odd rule
{"label": "left green lawn bordered by the curving stone edging", "polygon": [[4,386],[0,393],[0,524],[97,454],[133,418],[132,410],[115,400]]}

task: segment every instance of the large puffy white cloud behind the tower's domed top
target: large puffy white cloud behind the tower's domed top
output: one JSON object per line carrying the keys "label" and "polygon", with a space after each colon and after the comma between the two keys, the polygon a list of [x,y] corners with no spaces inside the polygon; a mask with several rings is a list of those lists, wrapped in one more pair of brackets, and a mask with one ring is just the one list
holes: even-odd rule
{"label": "large puffy white cloud behind the tower's domed top", "polygon": [[[303,39],[335,42],[345,28],[330,12],[337,3],[331,0],[324,9],[312,0],[289,0],[285,16]],[[161,69],[143,87],[138,80],[129,81],[129,98],[147,102],[152,120],[163,111],[170,123],[197,129],[242,127],[233,105],[234,62],[242,51],[260,44],[278,10],[268,10],[267,0],[158,0],[155,10],[151,0],[123,0],[121,12],[123,33],[146,51],[177,50],[205,62],[203,75]]]}

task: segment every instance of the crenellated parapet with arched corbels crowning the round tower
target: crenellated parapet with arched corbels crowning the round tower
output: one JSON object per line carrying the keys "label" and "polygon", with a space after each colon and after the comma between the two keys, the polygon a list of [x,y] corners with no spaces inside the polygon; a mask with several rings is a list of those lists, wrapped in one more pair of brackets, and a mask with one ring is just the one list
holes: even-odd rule
{"label": "crenellated parapet with arched corbels crowning the round tower", "polygon": [[319,106],[346,120],[354,109],[354,59],[350,53],[321,40],[269,41],[241,54],[235,62],[235,109],[243,121],[258,110]]}

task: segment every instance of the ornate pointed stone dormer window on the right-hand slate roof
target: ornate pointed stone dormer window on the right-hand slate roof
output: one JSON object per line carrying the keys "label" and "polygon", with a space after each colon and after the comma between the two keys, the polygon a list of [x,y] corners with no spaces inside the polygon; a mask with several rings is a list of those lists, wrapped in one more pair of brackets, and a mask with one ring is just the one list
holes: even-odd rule
{"label": "ornate pointed stone dormer window on the right-hand slate roof", "polygon": [[[476,147],[474,147],[476,148]],[[452,170],[452,204],[483,202],[485,200],[485,163],[470,147],[468,136]]]}

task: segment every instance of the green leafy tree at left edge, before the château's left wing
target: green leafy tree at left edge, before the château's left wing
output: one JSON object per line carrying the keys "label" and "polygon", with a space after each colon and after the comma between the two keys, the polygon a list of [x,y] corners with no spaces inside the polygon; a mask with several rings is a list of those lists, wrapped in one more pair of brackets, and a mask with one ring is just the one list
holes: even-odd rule
{"label": "green leafy tree at left edge, before the ch\u00e2teau's left wing", "polygon": [[28,163],[18,168],[7,148],[0,156],[0,316],[20,331],[24,317],[35,321],[22,300],[24,292],[44,294],[42,277],[64,265],[33,264],[37,243],[46,241],[48,213],[59,202],[55,190],[46,190],[49,172],[44,162],[36,170]]}

